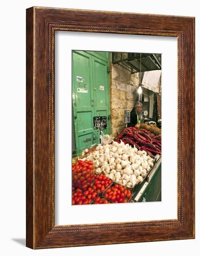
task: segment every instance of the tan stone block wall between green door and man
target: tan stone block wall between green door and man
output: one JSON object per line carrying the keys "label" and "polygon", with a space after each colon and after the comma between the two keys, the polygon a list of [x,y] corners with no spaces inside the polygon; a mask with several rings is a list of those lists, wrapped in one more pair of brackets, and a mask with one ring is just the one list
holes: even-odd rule
{"label": "tan stone block wall between green door and man", "polygon": [[126,123],[123,122],[124,109],[132,110],[137,101],[137,88],[139,84],[139,73],[131,74],[119,64],[111,62],[111,133],[120,133]]}

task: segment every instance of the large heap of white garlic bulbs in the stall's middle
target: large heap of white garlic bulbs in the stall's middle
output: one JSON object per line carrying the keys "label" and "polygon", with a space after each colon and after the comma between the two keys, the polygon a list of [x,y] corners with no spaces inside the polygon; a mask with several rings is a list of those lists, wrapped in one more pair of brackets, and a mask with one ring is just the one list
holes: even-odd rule
{"label": "large heap of white garlic bulbs in the stall's middle", "polygon": [[[82,156],[86,153],[88,149],[82,152]],[[95,151],[82,160],[85,159],[93,161],[97,173],[103,173],[113,182],[128,188],[142,182],[154,166],[154,160],[146,151],[125,145],[123,141],[112,141],[112,144],[103,146],[99,144]]]}

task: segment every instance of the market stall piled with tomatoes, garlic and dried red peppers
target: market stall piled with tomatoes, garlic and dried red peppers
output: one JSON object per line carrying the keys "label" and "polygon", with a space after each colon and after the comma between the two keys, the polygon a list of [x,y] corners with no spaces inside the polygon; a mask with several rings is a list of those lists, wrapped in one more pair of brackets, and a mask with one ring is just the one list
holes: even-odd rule
{"label": "market stall piled with tomatoes, garlic and dried red peppers", "polygon": [[78,155],[72,159],[72,204],[149,201],[157,176],[154,201],[161,200],[161,135],[125,128]]}

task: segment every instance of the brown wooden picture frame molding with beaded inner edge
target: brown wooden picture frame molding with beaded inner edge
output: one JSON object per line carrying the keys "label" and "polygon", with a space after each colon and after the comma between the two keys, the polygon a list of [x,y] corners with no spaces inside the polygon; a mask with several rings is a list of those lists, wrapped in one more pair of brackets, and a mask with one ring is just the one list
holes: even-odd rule
{"label": "brown wooden picture frame molding with beaded inner edge", "polygon": [[[178,38],[178,113],[181,113],[177,143],[178,219],[55,226],[55,30]],[[42,249],[192,238],[194,17],[45,7],[26,9],[26,246]]]}

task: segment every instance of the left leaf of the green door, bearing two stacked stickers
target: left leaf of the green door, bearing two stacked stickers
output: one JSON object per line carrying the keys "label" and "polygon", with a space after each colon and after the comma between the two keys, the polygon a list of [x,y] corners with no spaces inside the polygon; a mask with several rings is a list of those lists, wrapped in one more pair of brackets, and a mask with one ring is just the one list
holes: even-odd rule
{"label": "left leaf of the green door, bearing two stacked stickers", "polygon": [[[72,52],[73,60],[73,114],[76,149],[86,148],[93,141],[94,94],[92,88],[92,61],[82,51]],[[81,81],[80,81],[81,78]],[[77,81],[79,79],[79,81]]]}

